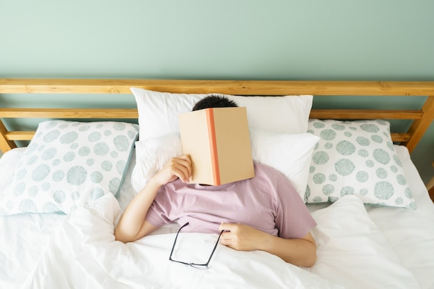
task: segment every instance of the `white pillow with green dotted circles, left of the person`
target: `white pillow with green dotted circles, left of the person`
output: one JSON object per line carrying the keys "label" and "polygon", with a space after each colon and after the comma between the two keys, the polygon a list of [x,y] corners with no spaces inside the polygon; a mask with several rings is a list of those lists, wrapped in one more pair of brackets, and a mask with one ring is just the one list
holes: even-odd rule
{"label": "white pillow with green dotted circles, left of the person", "polygon": [[116,121],[44,121],[0,192],[0,216],[71,213],[117,195],[139,127]]}

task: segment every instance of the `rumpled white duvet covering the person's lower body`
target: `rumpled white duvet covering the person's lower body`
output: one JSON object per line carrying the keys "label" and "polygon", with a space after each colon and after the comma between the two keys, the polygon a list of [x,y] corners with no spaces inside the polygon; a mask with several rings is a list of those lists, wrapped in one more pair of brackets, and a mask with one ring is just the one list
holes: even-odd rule
{"label": "rumpled white duvet covering the person's lower body", "polygon": [[[113,235],[120,216],[119,203],[108,194],[64,218],[23,288],[419,288],[354,196],[313,212],[318,262],[309,270],[223,245],[209,270],[171,263],[175,234],[123,244]],[[181,233],[176,258],[206,260],[216,238]]]}

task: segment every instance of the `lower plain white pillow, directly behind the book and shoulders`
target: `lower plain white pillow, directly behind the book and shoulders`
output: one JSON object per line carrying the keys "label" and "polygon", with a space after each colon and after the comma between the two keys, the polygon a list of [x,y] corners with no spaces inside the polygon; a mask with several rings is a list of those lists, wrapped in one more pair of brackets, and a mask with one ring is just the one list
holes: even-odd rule
{"label": "lower plain white pillow, directly behind the book and shoulders", "polygon": [[[250,130],[254,161],[272,166],[283,173],[304,200],[312,151],[320,139],[313,134],[284,134]],[[172,157],[182,155],[177,133],[136,142],[136,166],[132,186],[140,191],[148,180]]]}

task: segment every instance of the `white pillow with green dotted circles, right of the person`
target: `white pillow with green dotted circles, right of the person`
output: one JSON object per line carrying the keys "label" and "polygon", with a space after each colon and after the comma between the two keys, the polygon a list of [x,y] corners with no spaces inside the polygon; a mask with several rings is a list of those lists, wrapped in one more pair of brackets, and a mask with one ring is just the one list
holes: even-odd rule
{"label": "white pillow with green dotted circles, right of the person", "polygon": [[311,160],[308,203],[354,194],[365,204],[416,209],[388,121],[310,119],[308,132],[320,137]]}

